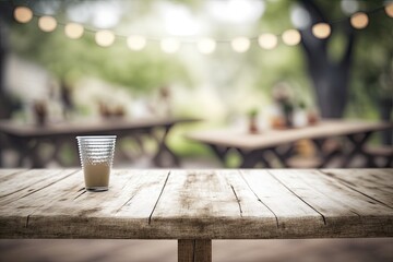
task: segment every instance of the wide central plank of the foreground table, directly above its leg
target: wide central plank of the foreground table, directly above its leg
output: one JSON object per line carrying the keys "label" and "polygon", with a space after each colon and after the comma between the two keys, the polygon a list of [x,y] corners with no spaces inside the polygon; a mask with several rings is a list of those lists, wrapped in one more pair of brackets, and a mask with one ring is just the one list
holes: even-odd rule
{"label": "wide central plank of the foreground table, directly above its leg", "polygon": [[[248,226],[242,227],[245,224]],[[151,226],[168,238],[277,234],[272,212],[258,201],[239,174],[230,170],[171,170]]]}

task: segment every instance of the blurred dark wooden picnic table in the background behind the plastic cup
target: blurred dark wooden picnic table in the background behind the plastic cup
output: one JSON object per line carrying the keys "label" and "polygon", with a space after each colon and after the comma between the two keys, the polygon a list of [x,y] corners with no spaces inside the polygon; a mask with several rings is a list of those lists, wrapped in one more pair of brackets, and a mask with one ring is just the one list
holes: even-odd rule
{"label": "blurred dark wooden picnic table in the background behind the plastic cup", "polygon": [[[28,159],[35,168],[45,167],[52,158],[59,162],[59,150],[62,144],[72,145],[76,156],[76,135],[116,134],[118,139],[131,138],[140,142],[141,135],[147,135],[155,141],[157,151],[153,158],[156,166],[164,166],[164,157],[170,165],[178,166],[179,158],[167,146],[167,136],[176,124],[196,121],[189,118],[145,118],[145,119],[102,119],[94,121],[76,121],[48,123],[45,126],[22,124],[12,121],[0,121],[0,133],[7,135],[11,146],[19,152],[17,166]],[[1,143],[1,140],[0,140]],[[55,153],[44,158],[39,147],[44,143],[55,146]],[[0,144],[1,147],[1,144]],[[78,159],[78,158],[76,158]],[[1,163],[0,163],[1,164]],[[0,165],[1,166],[1,165]]]}

